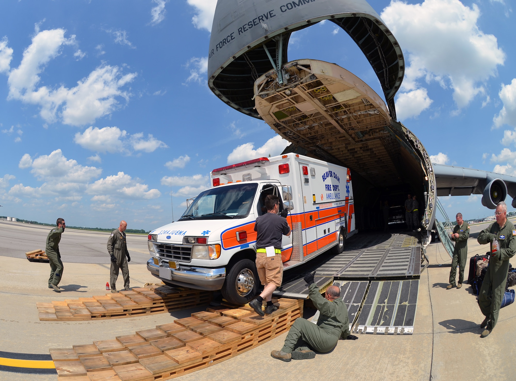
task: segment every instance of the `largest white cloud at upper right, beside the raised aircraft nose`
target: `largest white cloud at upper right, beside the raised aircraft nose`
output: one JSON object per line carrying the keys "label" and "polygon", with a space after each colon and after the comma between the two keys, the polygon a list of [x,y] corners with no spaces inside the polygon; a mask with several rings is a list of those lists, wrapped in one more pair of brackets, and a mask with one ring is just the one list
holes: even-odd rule
{"label": "largest white cloud at upper right, beside the raised aircraft nose", "polygon": [[477,22],[476,4],[467,7],[459,0],[425,0],[421,4],[391,1],[381,13],[406,54],[402,89],[415,90],[418,80],[437,81],[453,89],[453,98],[462,108],[480,93],[481,85],[497,74],[505,53],[496,37],[483,33]]}

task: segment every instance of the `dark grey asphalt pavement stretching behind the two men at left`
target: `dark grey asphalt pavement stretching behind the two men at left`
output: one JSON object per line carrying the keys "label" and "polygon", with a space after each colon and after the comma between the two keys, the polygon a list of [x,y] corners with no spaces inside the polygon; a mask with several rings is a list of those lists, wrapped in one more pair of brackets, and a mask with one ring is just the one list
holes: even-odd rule
{"label": "dark grey asphalt pavement stretching behind the two men at left", "polygon": [[[45,249],[50,226],[0,220],[0,256],[26,258],[25,252]],[[109,264],[107,239],[109,232],[66,229],[61,235],[59,251],[63,262]],[[131,264],[144,264],[149,259],[147,235],[127,234]]]}

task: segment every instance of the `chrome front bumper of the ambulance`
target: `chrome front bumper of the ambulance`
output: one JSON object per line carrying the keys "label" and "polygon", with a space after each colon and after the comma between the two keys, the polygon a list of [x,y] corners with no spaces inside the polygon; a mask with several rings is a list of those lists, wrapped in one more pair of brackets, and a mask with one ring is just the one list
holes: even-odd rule
{"label": "chrome front bumper of the ambulance", "polygon": [[[160,259],[160,261],[163,260]],[[188,266],[188,269],[182,269],[180,266],[179,269],[174,269],[169,268],[168,265],[159,266],[154,263],[154,258],[151,258],[147,261],[147,269],[152,275],[162,281],[198,290],[220,290],[225,281],[225,267],[205,268]],[[168,274],[168,271],[170,271],[170,279],[168,277],[160,277],[160,269],[162,269],[162,275]]]}

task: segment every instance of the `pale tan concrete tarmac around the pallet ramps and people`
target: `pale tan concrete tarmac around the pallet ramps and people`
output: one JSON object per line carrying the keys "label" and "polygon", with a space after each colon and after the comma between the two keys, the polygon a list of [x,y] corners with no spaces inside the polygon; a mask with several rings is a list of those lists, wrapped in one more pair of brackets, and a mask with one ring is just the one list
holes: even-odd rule
{"label": "pale tan concrete tarmac around the pallet ramps and people", "polygon": [[[470,257],[474,252],[488,250],[487,245],[480,246],[473,238],[468,245]],[[271,358],[270,352],[282,347],[284,334],[237,357],[178,379],[514,379],[512,359],[516,355],[516,303],[501,309],[498,324],[491,335],[480,339],[482,329],[479,323],[483,316],[470,286],[464,284],[460,290],[446,290],[451,259],[439,242],[431,244],[427,254],[430,265],[421,274],[413,335],[359,335],[358,340],[340,341],[331,353],[317,355],[315,359],[282,362]],[[516,258],[512,262],[516,262]],[[156,281],[143,264],[130,264],[129,268],[131,286]],[[108,266],[65,263],[65,269],[68,271],[62,284],[67,291],[57,294],[47,288],[48,264],[0,256],[3,351],[47,354],[52,347],[114,339],[204,309],[98,322],[40,322],[37,301],[102,295],[105,292]],[[305,310],[305,317],[313,312]],[[57,376],[0,372],[0,380],[27,379],[56,380]]]}

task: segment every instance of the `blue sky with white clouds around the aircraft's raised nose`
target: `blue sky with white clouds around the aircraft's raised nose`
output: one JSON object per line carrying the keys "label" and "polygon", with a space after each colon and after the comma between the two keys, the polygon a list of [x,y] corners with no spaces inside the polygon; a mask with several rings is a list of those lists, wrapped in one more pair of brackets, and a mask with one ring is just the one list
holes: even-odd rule
{"label": "blue sky with white clouds around the aircraft's raised nose", "polygon": [[[516,174],[511,3],[370,4],[408,61],[398,117],[434,161]],[[213,0],[0,7],[1,215],[150,230],[171,220],[170,184],[177,218],[210,170],[286,145],[207,89]],[[335,62],[381,94],[330,22],[295,33],[288,58]],[[478,196],[442,201],[449,215],[490,214]]]}

